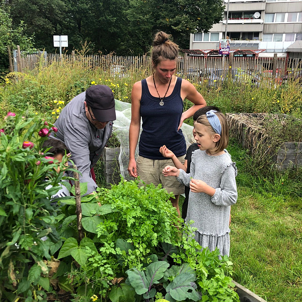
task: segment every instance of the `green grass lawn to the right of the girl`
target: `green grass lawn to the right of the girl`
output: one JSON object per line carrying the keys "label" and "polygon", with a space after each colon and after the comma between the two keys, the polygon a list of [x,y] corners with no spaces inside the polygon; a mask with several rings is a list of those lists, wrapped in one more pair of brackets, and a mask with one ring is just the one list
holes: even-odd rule
{"label": "green grass lawn to the right of the girl", "polygon": [[269,302],[302,301],[302,183],[290,173],[252,175],[243,150],[232,144],[228,150],[238,167],[230,227],[233,278]]}

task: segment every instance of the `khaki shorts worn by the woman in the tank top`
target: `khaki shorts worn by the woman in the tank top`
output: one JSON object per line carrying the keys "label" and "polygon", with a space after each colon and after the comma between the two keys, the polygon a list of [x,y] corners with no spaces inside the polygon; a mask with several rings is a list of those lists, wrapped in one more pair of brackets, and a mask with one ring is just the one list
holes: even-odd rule
{"label": "khaki shorts worn by the woman in the tank top", "polygon": [[[185,155],[178,157],[179,161],[184,164]],[[175,176],[164,176],[163,169],[166,166],[174,166],[171,159],[166,160],[150,160],[138,156],[136,161],[136,171],[140,179],[146,184],[153,183],[156,186],[162,184],[168,193],[173,192],[174,195],[183,194],[185,188],[181,185]]]}

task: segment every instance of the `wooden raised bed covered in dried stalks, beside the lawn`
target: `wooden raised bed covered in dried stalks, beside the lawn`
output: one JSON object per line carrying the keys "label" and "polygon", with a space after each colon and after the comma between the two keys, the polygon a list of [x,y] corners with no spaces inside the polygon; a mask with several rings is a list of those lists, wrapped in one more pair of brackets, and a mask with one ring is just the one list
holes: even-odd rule
{"label": "wooden raised bed covered in dried stalks, beside the lawn", "polygon": [[[296,168],[302,165],[302,142],[286,141],[287,132],[291,129],[286,129],[294,125],[298,127],[302,121],[285,114],[267,114],[267,113],[226,113],[226,120],[230,127],[230,135],[234,136],[241,145],[249,150],[251,156],[257,159],[267,158],[275,163],[278,170],[287,168]],[[267,123],[271,122],[271,128],[276,126],[268,133]],[[277,126],[280,126],[278,128]],[[278,132],[279,129],[279,132]],[[301,134],[300,128],[298,131],[292,129],[292,133],[299,137]],[[270,135],[275,132],[275,137]],[[283,138],[283,139],[282,139]]]}

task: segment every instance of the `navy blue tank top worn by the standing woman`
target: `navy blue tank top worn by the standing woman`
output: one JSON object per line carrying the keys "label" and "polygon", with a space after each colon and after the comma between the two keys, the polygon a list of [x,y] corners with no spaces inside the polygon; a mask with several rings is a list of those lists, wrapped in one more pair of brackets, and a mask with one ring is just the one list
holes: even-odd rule
{"label": "navy blue tank top worn by the standing woman", "polygon": [[186,141],[182,130],[177,130],[183,112],[180,95],[181,78],[177,78],[172,94],[164,99],[152,96],[146,80],[141,81],[140,116],[142,132],[139,139],[139,155],[151,160],[165,160],[160,147],[166,145],[177,157],[186,154]]}

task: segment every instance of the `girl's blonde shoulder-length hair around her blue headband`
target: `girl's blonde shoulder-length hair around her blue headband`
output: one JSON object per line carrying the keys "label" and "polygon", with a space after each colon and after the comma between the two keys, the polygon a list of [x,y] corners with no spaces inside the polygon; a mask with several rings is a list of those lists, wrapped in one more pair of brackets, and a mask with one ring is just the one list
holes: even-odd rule
{"label": "girl's blonde shoulder-length hair around her blue headband", "polygon": [[[228,127],[228,123],[226,122],[226,118],[223,113],[215,112],[215,114],[217,115],[219,122],[221,124],[221,134],[220,134],[220,139],[216,142],[215,149],[212,151],[218,153],[218,152],[223,151],[223,149],[225,149],[229,144],[229,127]],[[206,115],[199,116],[196,120],[196,123],[200,123],[200,124],[206,126],[207,132],[210,135],[214,135],[216,133],[214,131],[214,129],[212,128],[212,126],[210,125]]]}

